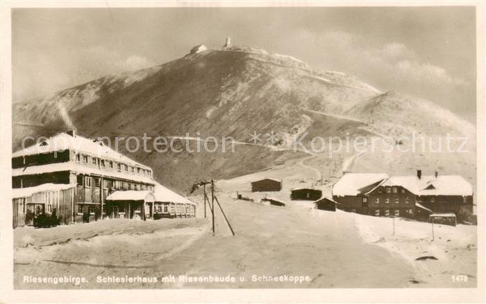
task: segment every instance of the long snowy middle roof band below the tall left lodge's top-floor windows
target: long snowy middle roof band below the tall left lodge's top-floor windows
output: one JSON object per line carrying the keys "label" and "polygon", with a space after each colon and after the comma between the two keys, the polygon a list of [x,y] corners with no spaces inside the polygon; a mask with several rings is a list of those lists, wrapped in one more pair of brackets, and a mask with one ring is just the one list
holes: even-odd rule
{"label": "long snowy middle roof band below the tall left lodge's top-floor windows", "polygon": [[72,171],[81,174],[100,175],[104,177],[113,177],[117,179],[127,179],[129,181],[140,181],[146,184],[154,184],[154,180],[146,175],[138,175],[137,173],[117,171],[117,170],[101,170],[97,167],[84,165],[83,163],[49,163],[42,166],[29,166],[26,168],[12,169],[12,176],[17,177],[21,175],[37,175],[47,172],[58,171]]}

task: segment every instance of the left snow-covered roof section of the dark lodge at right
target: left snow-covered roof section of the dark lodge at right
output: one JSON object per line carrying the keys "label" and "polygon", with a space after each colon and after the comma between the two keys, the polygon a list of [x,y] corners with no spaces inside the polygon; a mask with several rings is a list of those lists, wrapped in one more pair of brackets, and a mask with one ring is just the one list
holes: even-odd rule
{"label": "left snow-covered roof section of the dark lodge at right", "polygon": [[358,195],[363,188],[372,186],[384,179],[388,175],[385,173],[352,173],[344,174],[333,186],[333,196]]}

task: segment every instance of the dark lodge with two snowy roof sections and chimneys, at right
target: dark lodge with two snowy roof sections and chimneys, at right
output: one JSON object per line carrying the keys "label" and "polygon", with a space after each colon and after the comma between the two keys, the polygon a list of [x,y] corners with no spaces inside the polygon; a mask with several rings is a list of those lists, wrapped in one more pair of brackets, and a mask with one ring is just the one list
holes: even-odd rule
{"label": "dark lodge with two snowy roof sections and chimneys, at right", "polygon": [[333,199],[344,211],[375,216],[428,220],[431,214],[453,214],[471,221],[473,188],[459,175],[392,176],[385,173],[344,175],[333,186]]}

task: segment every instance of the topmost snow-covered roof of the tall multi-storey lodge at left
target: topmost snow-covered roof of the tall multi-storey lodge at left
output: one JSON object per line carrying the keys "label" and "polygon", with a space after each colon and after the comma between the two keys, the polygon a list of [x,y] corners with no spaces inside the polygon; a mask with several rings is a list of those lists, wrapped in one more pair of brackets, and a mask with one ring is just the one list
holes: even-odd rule
{"label": "topmost snow-covered roof of the tall multi-storey lodge at left", "polygon": [[94,157],[102,159],[110,159],[112,161],[119,161],[128,165],[139,166],[141,168],[150,169],[148,166],[137,163],[133,159],[129,159],[123,154],[113,150],[112,148],[104,145],[100,141],[94,139],[85,138],[75,134],[74,136],[67,133],[59,133],[47,140],[40,143],[36,143],[30,147],[26,147],[23,150],[12,153],[12,157],[22,157],[26,155],[42,154],[47,152],[72,150],[80,153],[89,154]]}

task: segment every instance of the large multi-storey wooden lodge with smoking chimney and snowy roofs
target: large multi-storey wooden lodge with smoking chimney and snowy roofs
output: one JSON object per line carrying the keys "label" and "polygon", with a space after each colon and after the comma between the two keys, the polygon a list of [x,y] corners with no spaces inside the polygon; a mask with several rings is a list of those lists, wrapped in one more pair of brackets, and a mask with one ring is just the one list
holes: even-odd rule
{"label": "large multi-storey wooden lodge with smoking chimney and snowy roofs", "polygon": [[158,184],[151,168],[74,131],[13,153],[12,188],[14,227],[53,210],[64,224],[195,215],[195,204]]}

